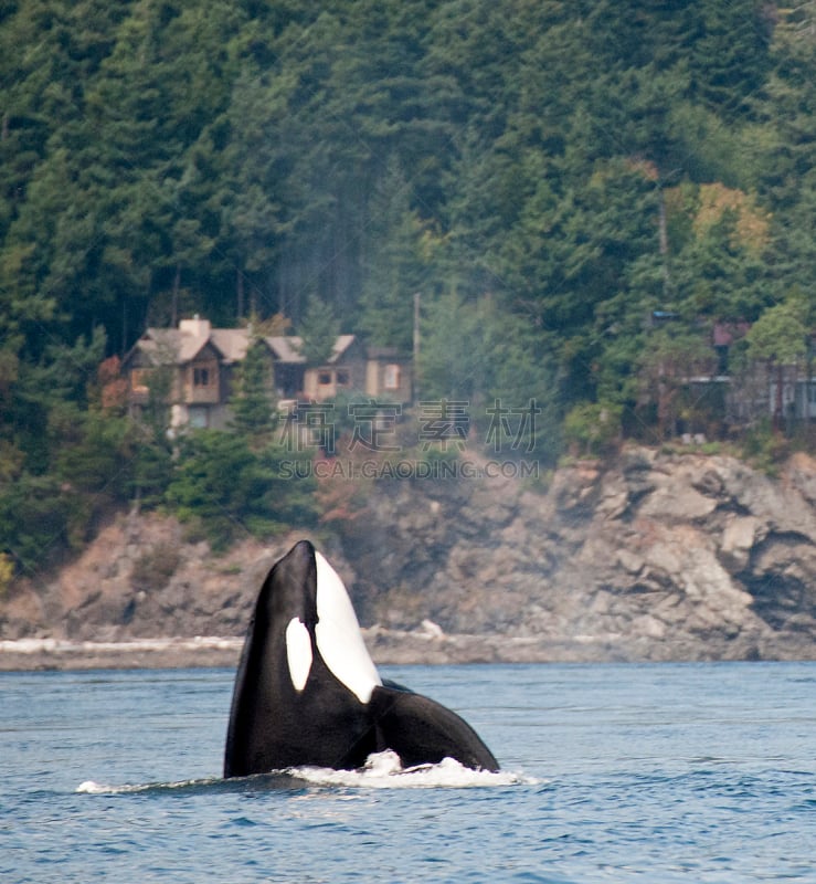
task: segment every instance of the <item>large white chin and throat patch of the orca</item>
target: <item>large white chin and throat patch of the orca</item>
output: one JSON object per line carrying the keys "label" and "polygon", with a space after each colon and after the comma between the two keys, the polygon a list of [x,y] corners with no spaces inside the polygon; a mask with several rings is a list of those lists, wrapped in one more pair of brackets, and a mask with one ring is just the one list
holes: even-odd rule
{"label": "large white chin and throat patch of the orca", "polygon": [[360,624],[349,593],[337,571],[315,552],[317,564],[317,627],[315,638],[320,656],[335,677],[361,703],[382,684],[373,660],[365,650]]}

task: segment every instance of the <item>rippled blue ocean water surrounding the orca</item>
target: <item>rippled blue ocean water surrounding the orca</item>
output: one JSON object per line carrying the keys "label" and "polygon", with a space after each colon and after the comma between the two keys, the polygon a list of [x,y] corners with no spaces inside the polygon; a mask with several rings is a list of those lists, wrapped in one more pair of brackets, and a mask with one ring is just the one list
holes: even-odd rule
{"label": "rippled blue ocean water surrounding the orca", "polygon": [[816,664],[382,667],[502,770],[220,779],[233,673],[0,674],[0,881],[816,882]]}

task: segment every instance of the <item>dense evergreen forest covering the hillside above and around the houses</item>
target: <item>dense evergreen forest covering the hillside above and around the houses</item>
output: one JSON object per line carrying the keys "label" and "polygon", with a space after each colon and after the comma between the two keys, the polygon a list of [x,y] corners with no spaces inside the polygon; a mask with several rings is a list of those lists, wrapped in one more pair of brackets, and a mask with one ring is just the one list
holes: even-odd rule
{"label": "dense evergreen forest covering the hillside above and around the houses", "polygon": [[0,84],[17,562],[22,513],[65,540],[134,493],[98,367],[148,324],[311,307],[405,349],[420,293],[424,396],[536,399],[550,456],[659,438],[714,323],[752,327],[734,373],[816,325],[813,0],[27,0]]}

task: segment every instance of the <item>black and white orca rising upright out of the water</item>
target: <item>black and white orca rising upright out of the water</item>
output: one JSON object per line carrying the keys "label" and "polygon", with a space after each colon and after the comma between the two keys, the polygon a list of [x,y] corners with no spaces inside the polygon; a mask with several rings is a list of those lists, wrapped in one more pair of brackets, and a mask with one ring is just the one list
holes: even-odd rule
{"label": "black and white orca rising upright out of the water", "polygon": [[403,767],[499,764],[463,718],[383,681],[335,569],[308,540],[271,569],[241,654],[224,778],[314,766],[353,770],[391,749]]}

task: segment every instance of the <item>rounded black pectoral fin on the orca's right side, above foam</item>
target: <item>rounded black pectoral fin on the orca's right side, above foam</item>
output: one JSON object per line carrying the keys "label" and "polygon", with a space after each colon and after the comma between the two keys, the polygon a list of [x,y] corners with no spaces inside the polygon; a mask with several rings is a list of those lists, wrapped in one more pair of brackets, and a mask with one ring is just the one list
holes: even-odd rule
{"label": "rounded black pectoral fin on the orca's right side, above foam", "polygon": [[474,769],[499,769],[470,725],[428,697],[382,686],[374,688],[369,706],[378,751],[395,751],[404,767],[454,758]]}

